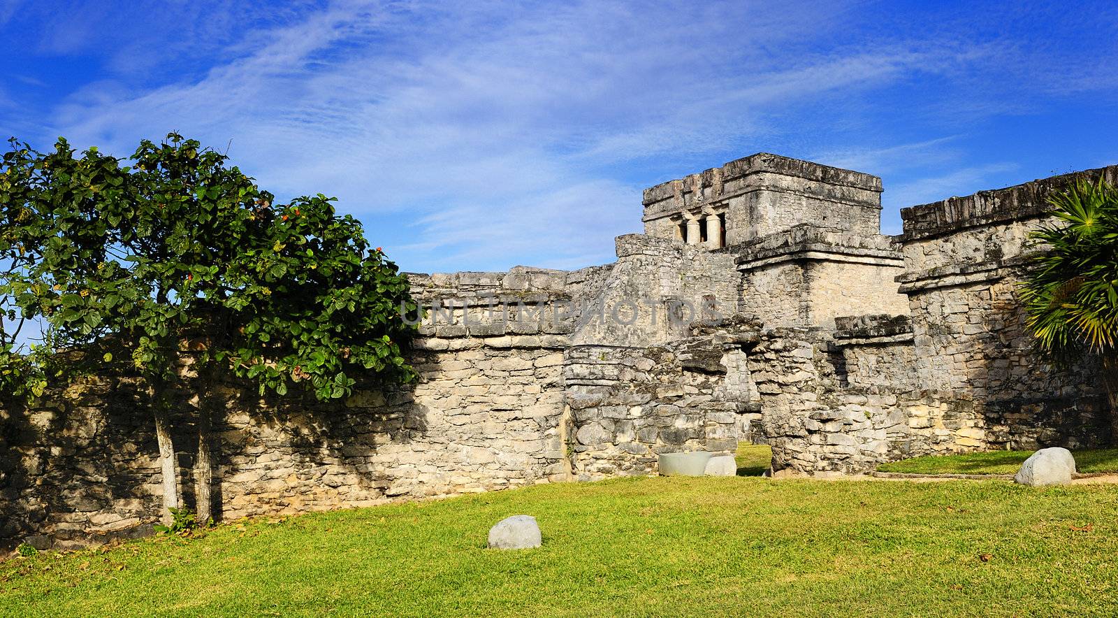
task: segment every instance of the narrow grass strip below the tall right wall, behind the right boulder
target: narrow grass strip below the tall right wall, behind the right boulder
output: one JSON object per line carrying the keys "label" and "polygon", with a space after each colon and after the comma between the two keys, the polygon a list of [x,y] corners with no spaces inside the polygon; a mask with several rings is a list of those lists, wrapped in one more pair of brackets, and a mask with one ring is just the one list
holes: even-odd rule
{"label": "narrow grass strip below the tall right wall, behind the right boulder", "polygon": [[[882,472],[917,475],[1013,475],[1035,451],[988,451],[915,457],[878,467]],[[1080,472],[1118,472],[1118,449],[1071,451]]]}

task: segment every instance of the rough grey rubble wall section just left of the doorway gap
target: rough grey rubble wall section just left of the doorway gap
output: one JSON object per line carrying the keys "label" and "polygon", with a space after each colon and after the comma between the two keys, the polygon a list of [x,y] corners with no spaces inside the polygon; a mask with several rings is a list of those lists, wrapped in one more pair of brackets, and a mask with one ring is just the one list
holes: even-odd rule
{"label": "rough grey rubble wall section just left of the doorway gap", "polygon": [[571,462],[579,480],[656,471],[662,452],[732,455],[760,420],[750,384],[728,382],[721,335],[666,346],[567,350]]}

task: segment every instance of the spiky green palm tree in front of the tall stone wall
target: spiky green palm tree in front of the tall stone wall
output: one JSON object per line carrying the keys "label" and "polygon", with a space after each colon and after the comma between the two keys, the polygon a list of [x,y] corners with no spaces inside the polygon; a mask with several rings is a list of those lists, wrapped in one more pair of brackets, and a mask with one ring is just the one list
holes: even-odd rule
{"label": "spiky green palm tree in front of the tall stone wall", "polygon": [[1118,188],[1080,179],[1049,202],[1055,224],[1032,234],[1044,251],[1022,288],[1026,325],[1061,365],[1101,356],[1118,440]]}

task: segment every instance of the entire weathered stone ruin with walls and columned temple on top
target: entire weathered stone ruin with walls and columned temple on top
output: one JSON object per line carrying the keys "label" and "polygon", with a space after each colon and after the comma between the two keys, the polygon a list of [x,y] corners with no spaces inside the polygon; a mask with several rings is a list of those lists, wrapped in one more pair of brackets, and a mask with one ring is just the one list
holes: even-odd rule
{"label": "entire weathered stone ruin with walls and columned temple on top", "polygon": [[[215,427],[221,516],[650,475],[660,452],[741,441],[771,444],[776,476],[1105,443],[1099,363],[1038,358],[1017,300],[1046,196],[1100,175],[1118,167],[904,208],[887,236],[880,178],[759,153],[646,189],[645,233],[612,264],[410,275],[419,382],[235,400]],[[143,397],[91,378],[0,410],[0,541],[150,533]]]}

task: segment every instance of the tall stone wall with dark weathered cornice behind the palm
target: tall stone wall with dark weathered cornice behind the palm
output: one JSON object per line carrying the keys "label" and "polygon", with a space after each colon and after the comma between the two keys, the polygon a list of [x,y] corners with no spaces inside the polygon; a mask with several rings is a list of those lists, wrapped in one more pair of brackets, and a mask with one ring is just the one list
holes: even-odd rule
{"label": "tall stone wall with dark weathered cornice behind the palm", "polygon": [[[1029,232],[1051,223],[1046,198],[1077,178],[1118,179],[1118,167],[980,191],[901,212],[916,369],[927,388],[963,390],[1003,409],[1091,414],[1103,393],[1098,358],[1058,368],[1039,358],[1020,299]],[[1082,439],[1086,439],[1081,436]],[[1091,441],[1101,441],[1103,436]]]}

